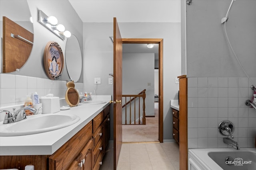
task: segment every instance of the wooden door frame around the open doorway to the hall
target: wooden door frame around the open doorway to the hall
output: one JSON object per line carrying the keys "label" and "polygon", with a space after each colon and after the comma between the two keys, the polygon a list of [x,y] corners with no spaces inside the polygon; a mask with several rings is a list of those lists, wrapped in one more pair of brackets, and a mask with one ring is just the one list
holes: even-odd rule
{"label": "wooden door frame around the open doorway to the hall", "polygon": [[163,143],[163,133],[164,133],[164,112],[163,112],[163,39],[156,38],[122,38],[123,44],[158,44],[158,68],[159,68],[159,105],[158,105],[158,140]]}

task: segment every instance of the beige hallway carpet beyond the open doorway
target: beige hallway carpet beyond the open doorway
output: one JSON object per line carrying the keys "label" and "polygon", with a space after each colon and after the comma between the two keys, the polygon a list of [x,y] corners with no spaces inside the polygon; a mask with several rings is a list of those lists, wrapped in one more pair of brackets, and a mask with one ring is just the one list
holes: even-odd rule
{"label": "beige hallway carpet beyond the open doorway", "polygon": [[155,117],[146,117],[146,125],[122,125],[123,143],[159,142],[158,102],[154,104]]}

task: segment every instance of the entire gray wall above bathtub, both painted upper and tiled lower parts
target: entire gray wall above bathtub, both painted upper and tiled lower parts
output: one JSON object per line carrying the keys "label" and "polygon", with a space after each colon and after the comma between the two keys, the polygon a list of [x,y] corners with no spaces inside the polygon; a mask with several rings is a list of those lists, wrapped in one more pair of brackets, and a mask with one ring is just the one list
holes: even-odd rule
{"label": "entire gray wall above bathtub, both painted upper and tiled lower parts", "polygon": [[[234,58],[220,23],[230,2],[193,0],[186,5],[189,148],[228,147],[217,128],[225,119],[234,123],[234,140],[240,147],[255,146],[256,111],[244,104],[252,97],[252,82]],[[236,0],[226,23],[230,43],[254,84],[255,8],[255,0]]]}

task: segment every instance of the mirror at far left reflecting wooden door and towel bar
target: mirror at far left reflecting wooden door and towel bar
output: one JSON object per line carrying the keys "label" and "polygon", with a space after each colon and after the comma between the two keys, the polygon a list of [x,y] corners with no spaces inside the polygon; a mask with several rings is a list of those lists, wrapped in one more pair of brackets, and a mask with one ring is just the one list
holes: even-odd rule
{"label": "mirror at far left reflecting wooden door and towel bar", "polygon": [[0,72],[18,71],[28,60],[34,41],[30,18],[26,0],[0,0]]}

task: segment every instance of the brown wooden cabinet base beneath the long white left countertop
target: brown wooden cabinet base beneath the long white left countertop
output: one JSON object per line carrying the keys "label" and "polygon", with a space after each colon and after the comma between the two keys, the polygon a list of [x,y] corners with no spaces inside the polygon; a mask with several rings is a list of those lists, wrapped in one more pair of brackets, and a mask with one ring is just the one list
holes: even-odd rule
{"label": "brown wooden cabinet base beneath the long white left countertop", "polygon": [[99,170],[110,137],[107,106],[52,155],[0,156],[0,169]]}

